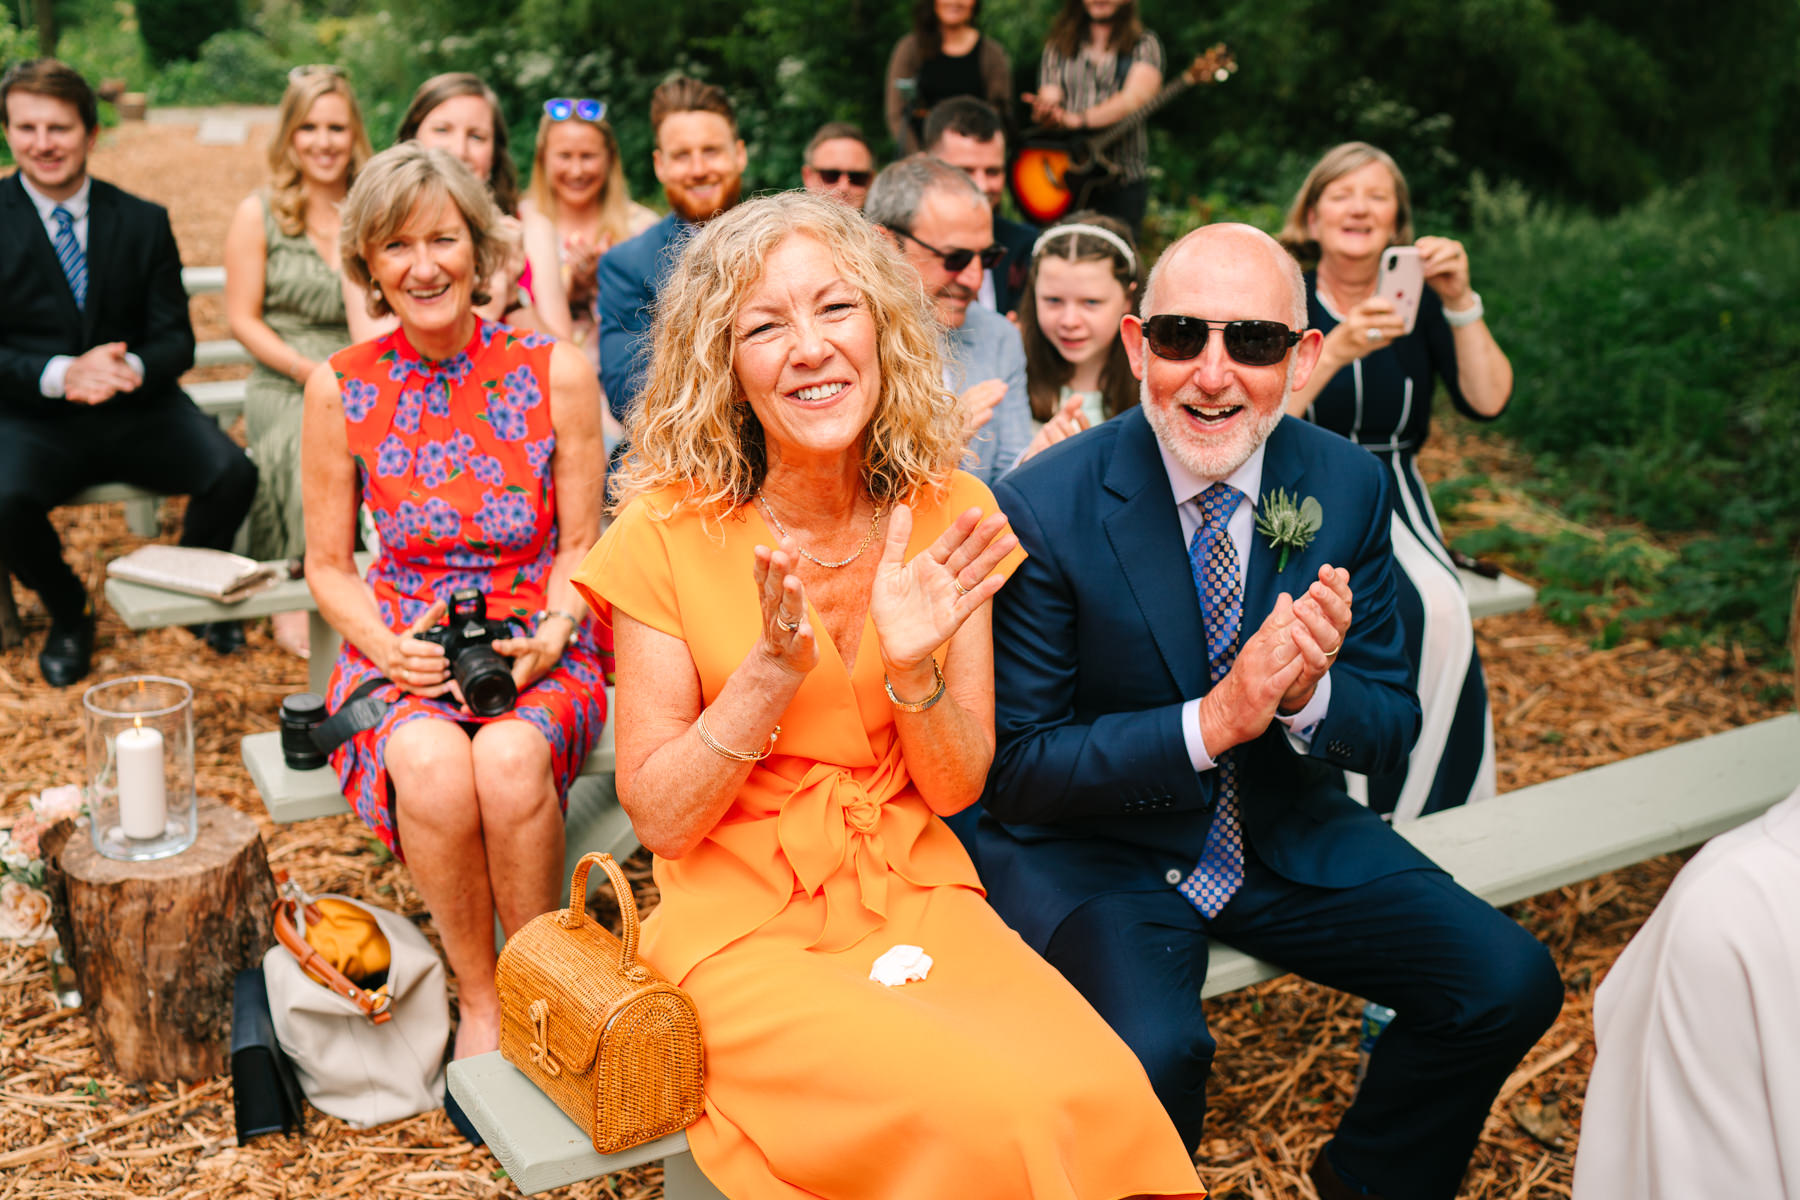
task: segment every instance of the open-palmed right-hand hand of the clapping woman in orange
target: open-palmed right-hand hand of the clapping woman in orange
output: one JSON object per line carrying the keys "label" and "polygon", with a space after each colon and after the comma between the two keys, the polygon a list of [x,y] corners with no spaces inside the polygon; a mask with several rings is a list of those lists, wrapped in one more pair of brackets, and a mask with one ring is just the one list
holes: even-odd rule
{"label": "open-palmed right-hand hand of the clapping woman in orange", "polygon": [[887,538],[869,592],[869,617],[889,676],[909,673],[931,658],[1001,590],[994,574],[1019,545],[1006,527],[1006,515],[981,516],[972,507],[958,516],[929,547],[905,558],[913,536],[913,509],[896,504],[887,515]]}

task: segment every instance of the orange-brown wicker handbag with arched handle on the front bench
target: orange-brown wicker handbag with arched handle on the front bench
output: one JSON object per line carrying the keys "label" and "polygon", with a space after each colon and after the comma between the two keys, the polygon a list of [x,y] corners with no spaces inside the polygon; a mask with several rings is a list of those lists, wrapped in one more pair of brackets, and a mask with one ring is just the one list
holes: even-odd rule
{"label": "orange-brown wicker handbag with arched handle on the front bench", "polygon": [[[621,943],[587,916],[587,873],[612,880]],[[688,993],[637,961],[637,903],[612,855],[583,855],[569,907],[506,941],[495,973],[500,1054],[617,1153],[700,1119],[700,1018]]]}

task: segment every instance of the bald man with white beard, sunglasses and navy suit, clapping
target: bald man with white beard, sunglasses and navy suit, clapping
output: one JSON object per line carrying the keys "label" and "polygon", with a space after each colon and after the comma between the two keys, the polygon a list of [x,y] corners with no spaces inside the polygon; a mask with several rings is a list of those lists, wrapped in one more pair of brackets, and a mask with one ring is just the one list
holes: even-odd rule
{"label": "bald man with white beard, sunglasses and navy suit, clapping", "polygon": [[[1399,765],[1420,718],[1388,482],[1282,419],[1321,344],[1296,333],[1298,266],[1258,230],[1206,227],[1163,255],[1143,311],[1121,327],[1143,405],[994,489],[1030,558],[995,601],[983,882],[1190,1146],[1211,937],[1397,1009],[1312,1178],[1327,1200],[1447,1200],[1561,981],[1343,792],[1343,770]],[[1305,498],[1316,529],[1264,533]]]}

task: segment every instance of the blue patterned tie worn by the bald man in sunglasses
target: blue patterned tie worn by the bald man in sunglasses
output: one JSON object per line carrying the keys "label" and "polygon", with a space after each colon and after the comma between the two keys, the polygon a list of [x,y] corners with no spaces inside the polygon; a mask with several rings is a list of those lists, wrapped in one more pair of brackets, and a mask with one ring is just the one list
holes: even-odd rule
{"label": "blue patterned tie worn by the bald man in sunglasses", "polygon": [[[1244,590],[1237,578],[1237,547],[1226,533],[1226,522],[1244,498],[1237,488],[1213,484],[1201,493],[1201,527],[1188,543],[1188,565],[1193,569],[1193,587],[1201,594],[1201,617],[1206,621],[1206,666],[1213,685],[1226,676],[1237,660],[1237,635],[1244,622]],[[1213,788],[1213,824],[1201,847],[1201,862],[1181,882],[1181,894],[1201,910],[1208,921],[1219,916],[1226,901],[1244,883],[1244,831],[1238,826],[1237,754],[1219,756],[1217,786]]]}

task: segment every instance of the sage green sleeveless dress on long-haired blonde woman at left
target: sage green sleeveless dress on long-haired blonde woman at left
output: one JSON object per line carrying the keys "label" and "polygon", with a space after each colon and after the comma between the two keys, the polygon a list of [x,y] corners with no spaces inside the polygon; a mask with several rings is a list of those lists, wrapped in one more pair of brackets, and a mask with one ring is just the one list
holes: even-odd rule
{"label": "sage green sleeveless dress on long-haired blonde woman at left", "polygon": [[[293,353],[324,362],[349,345],[344,322],[344,286],[319,257],[306,232],[281,232],[263,194],[263,234],[268,261],[263,272],[263,320]],[[301,396],[288,376],[256,363],[245,387],[245,434],[259,479],[250,502],[248,554],[259,560],[299,558],[306,551],[301,507]]]}

